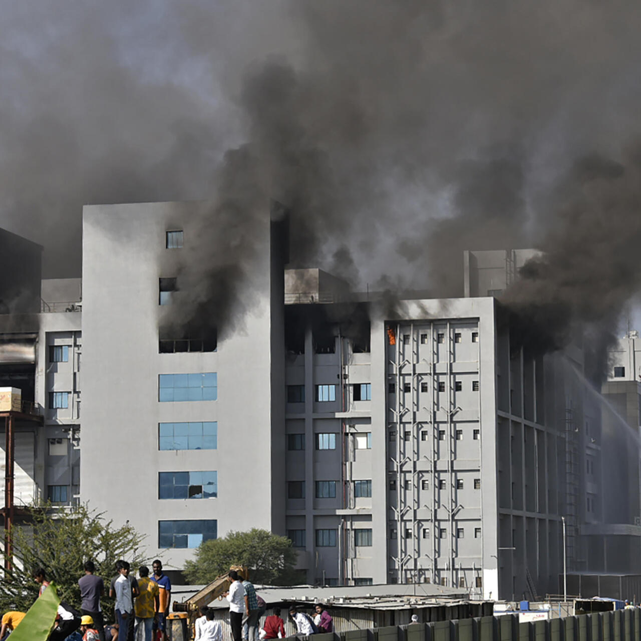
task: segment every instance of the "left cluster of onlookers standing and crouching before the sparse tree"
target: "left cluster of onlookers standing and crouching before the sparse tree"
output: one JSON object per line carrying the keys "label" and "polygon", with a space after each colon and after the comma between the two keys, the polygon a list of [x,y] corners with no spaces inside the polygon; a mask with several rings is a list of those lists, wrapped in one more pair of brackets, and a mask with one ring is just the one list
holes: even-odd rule
{"label": "left cluster of onlookers standing and crouching before the sparse tree", "polygon": [[[115,622],[106,625],[100,604],[105,594],[104,581],[96,576],[96,565],[87,561],[85,574],[78,579],[80,610],[62,601],[49,641],[156,641],[159,637],[167,641],[171,581],[163,573],[160,560],[156,559],[152,567],[153,574],[149,576],[149,568],[141,565],[136,579],[129,574],[128,562],[116,562],[117,574],[109,585],[109,596],[115,599]],[[40,584],[40,597],[49,586],[46,570],[36,570],[33,578]],[[17,628],[24,616],[24,612],[4,613],[0,641]]]}

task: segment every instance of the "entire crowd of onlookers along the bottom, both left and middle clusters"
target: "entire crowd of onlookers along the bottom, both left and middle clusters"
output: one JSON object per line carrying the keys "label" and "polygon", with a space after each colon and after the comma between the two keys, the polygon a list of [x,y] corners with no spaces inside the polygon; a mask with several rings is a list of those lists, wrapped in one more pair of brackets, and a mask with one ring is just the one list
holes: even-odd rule
{"label": "entire crowd of onlookers along the bottom, both left and middle clusters", "polygon": [[[138,578],[129,572],[126,561],[117,561],[117,574],[109,585],[109,596],[115,599],[113,624],[105,624],[100,599],[105,594],[103,579],[96,576],[93,562],[85,563],[85,574],[78,579],[80,610],[62,601],[58,605],[56,621],[49,641],[167,641],[167,615],[171,603],[171,581],[162,571],[162,563],[156,559],[149,568],[141,565]],[[229,590],[223,595],[229,602],[229,624],[233,641],[265,641],[284,638],[285,622],[281,610],[262,618],[267,604],[256,594],[252,583],[235,570],[229,572]],[[46,570],[35,571],[33,578],[39,584],[38,597],[49,586]],[[215,618],[213,608],[204,607],[196,619],[194,641],[222,641],[222,626]],[[2,617],[0,641],[24,619],[24,612],[6,612]],[[312,635],[332,632],[333,620],[321,604],[315,606],[313,616],[289,609],[289,618],[296,626],[296,633]],[[261,624],[262,623],[262,624]]]}

